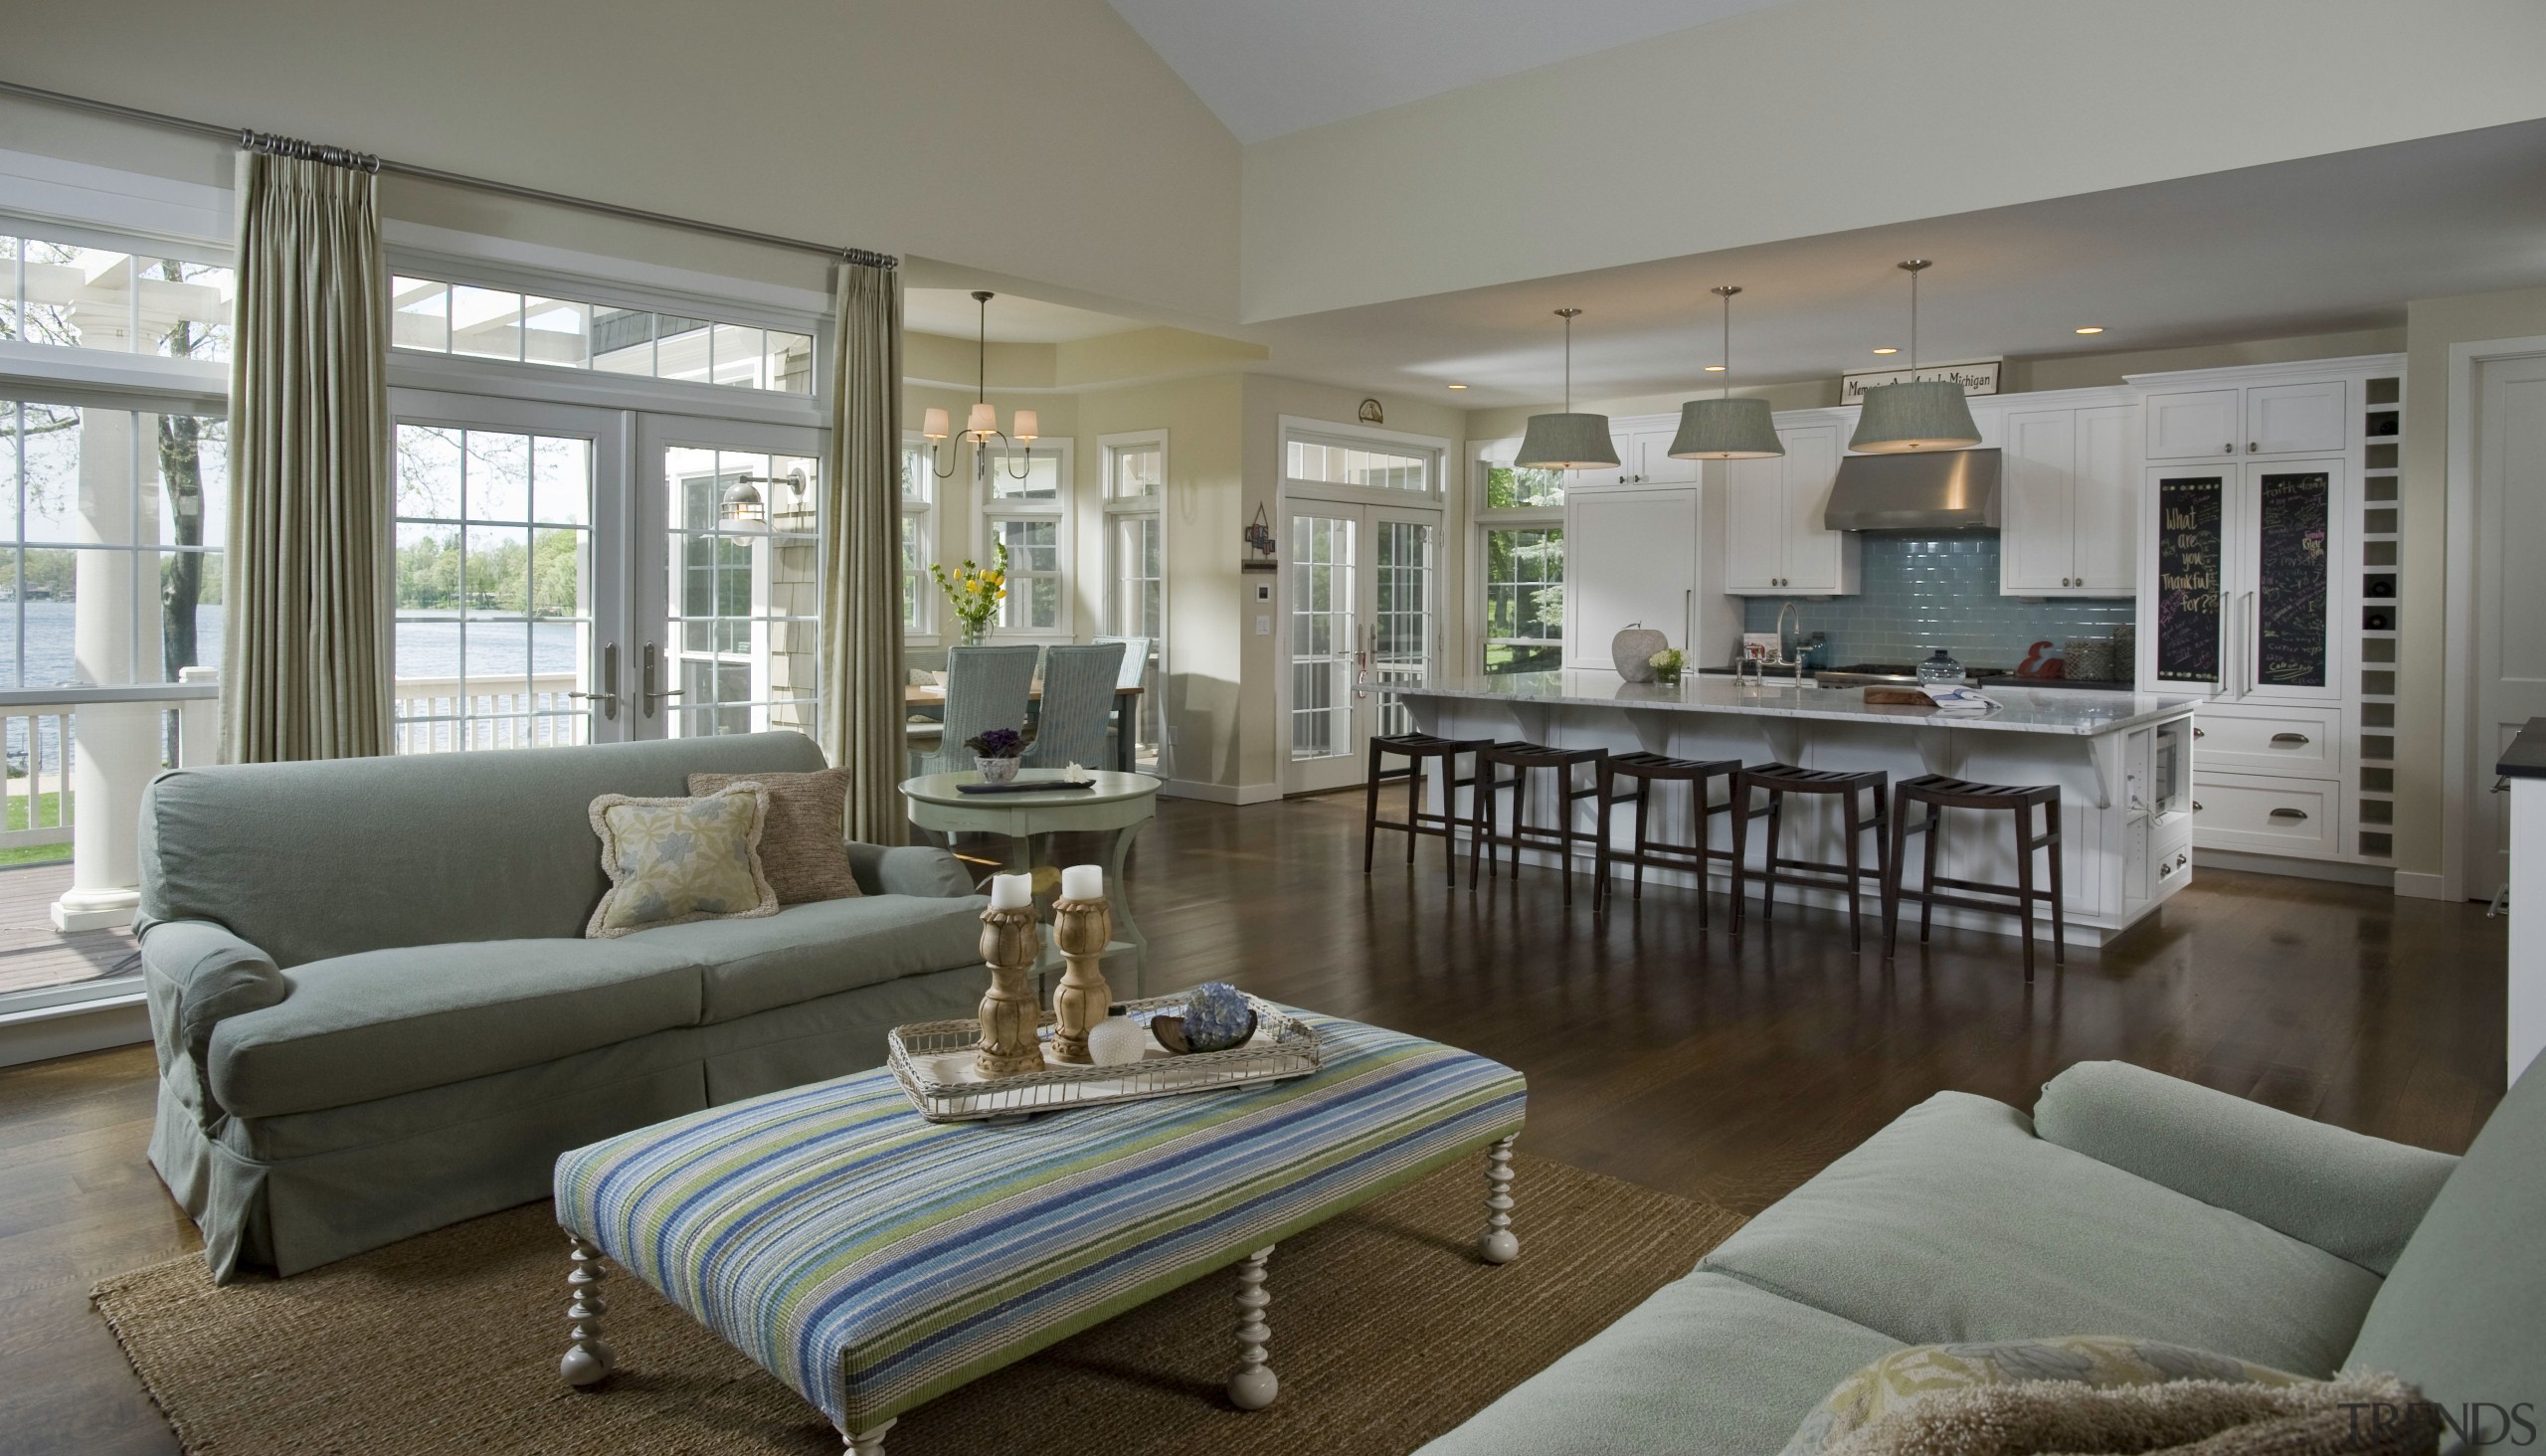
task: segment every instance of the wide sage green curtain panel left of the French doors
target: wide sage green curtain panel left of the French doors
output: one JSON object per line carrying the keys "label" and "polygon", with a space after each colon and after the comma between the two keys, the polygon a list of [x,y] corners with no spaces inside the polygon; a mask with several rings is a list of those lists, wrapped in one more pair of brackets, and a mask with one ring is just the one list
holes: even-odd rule
{"label": "wide sage green curtain panel left of the French doors", "polygon": [[390,277],[377,181],[239,153],[229,764],[390,751]]}

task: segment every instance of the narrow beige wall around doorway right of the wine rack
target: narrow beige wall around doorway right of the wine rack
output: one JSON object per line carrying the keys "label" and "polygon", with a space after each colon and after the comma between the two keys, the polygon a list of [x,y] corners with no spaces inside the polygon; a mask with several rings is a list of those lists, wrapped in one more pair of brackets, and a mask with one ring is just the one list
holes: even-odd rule
{"label": "narrow beige wall around doorway right of the wine rack", "polygon": [[[2406,305],[2403,570],[2398,573],[2396,868],[2439,876],[2449,797],[2447,669],[2472,644],[2447,636],[2449,346],[2546,333],[2546,288],[2424,298]],[[2490,779],[2482,779],[2490,784]],[[2477,886],[2467,886],[2477,893]]]}

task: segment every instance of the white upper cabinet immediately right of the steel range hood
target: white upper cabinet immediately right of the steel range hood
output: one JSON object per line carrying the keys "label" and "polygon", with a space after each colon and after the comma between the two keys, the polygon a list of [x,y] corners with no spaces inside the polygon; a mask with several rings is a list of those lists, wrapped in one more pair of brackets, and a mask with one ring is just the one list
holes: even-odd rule
{"label": "white upper cabinet immediately right of the steel range hood", "polygon": [[2139,591],[2139,471],[2128,405],[2014,410],[1999,476],[1999,591]]}

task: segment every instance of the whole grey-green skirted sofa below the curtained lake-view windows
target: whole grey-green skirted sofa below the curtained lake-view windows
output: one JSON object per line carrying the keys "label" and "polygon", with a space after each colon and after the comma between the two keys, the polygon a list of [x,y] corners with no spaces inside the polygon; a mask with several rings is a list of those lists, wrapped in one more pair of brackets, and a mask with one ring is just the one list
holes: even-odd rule
{"label": "whole grey-green skirted sofa below the curtained lake-view windows", "polygon": [[945,850],[850,845],[866,891],[583,939],[598,794],[820,769],[799,733],[244,764],[143,802],[150,1163],[222,1280],[547,1196],[558,1153],[883,1061],[985,985]]}

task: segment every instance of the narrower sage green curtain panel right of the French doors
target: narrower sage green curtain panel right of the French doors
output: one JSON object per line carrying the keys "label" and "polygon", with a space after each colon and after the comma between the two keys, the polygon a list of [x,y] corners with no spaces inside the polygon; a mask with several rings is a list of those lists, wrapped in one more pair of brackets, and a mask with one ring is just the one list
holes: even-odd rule
{"label": "narrower sage green curtain panel right of the French doors", "polygon": [[848,769],[848,837],[904,845],[901,275],[843,262],[822,461],[822,751]]}

